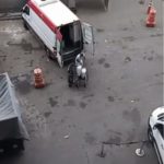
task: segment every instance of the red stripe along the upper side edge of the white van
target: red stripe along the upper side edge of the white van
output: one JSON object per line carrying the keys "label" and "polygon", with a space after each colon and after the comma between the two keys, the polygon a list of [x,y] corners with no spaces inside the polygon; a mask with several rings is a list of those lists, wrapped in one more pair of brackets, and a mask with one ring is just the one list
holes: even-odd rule
{"label": "red stripe along the upper side edge of the white van", "polygon": [[44,23],[57,35],[59,40],[62,39],[62,35],[57,28],[57,26],[51,22],[49,17],[31,0],[28,0],[27,5],[44,21]]}

